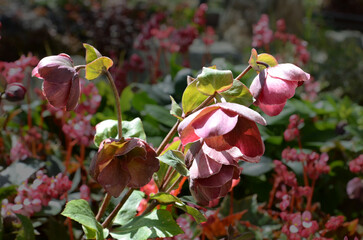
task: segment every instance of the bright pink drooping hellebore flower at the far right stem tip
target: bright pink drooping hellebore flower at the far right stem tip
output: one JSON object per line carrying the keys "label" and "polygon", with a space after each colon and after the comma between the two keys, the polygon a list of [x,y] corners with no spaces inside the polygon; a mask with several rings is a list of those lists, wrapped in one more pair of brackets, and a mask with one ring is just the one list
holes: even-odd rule
{"label": "bright pink drooping hellebore flower at the far right stem tip", "polygon": [[295,89],[310,79],[310,74],[291,63],[266,68],[258,74],[250,86],[256,99],[254,103],[269,116],[280,114],[287,99],[295,95]]}

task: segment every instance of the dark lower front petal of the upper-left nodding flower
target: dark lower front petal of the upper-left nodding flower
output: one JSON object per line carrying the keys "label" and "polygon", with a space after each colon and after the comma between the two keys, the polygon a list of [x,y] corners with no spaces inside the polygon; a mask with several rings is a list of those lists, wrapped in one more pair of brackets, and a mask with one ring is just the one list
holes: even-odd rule
{"label": "dark lower front petal of the upper-left nodding flower", "polygon": [[43,82],[43,94],[48,102],[57,108],[63,108],[67,104],[71,83]]}

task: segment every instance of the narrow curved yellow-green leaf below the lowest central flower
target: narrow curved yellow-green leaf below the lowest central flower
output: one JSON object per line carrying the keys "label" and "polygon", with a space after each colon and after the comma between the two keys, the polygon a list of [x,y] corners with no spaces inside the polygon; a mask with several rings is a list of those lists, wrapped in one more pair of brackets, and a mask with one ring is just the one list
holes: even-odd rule
{"label": "narrow curved yellow-green leaf below the lowest central flower", "polygon": [[207,221],[204,215],[201,212],[199,212],[197,209],[186,205],[179,198],[169,193],[157,193],[151,196],[150,199],[155,199],[161,204],[174,204],[175,207],[190,214],[198,224]]}

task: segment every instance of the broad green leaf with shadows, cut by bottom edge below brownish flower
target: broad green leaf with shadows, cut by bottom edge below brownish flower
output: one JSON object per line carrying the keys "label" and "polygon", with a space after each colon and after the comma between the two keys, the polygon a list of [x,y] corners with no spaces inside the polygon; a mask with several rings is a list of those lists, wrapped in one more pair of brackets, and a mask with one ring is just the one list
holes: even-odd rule
{"label": "broad green leaf with shadows, cut by bottom edge below brownish flower", "polygon": [[144,216],[135,217],[128,224],[110,232],[116,239],[146,240],[156,237],[172,237],[184,233],[166,210],[155,210]]}

